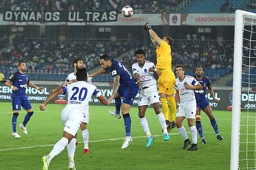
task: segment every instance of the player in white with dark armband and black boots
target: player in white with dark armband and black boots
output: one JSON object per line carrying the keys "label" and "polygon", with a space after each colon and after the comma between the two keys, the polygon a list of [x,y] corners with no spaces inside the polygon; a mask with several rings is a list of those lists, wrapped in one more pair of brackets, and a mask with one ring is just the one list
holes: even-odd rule
{"label": "player in white with dark armband and black boots", "polygon": [[177,94],[175,95],[176,105],[179,103],[176,114],[176,126],[184,138],[183,149],[186,149],[187,146],[191,143],[189,140],[186,129],[182,126],[184,118],[187,118],[187,123],[191,131],[191,136],[193,144],[187,150],[196,151],[197,150],[197,128],[194,124],[197,103],[194,90],[203,89],[201,84],[198,83],[197,79],[191,76],[184,75],[184,65],[176,65],[176,74],[178,78],[176,79],[175,89]]}

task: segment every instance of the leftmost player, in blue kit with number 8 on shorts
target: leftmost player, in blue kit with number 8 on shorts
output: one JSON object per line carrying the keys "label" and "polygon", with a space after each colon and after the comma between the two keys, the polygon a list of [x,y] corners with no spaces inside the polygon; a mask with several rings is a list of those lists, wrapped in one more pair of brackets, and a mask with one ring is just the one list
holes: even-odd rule
{"label": "leftmost player, in blue kit with number 8 on shorts", "polygon": [[20,128],[22,128],[23,132],[25,134],[28,134],[27,131],[27,123],[30,120],[30,117],[33,115],[33,109],[31,107],[31,104],[28,100],[28,97],[26,95],[26,88],[27,85],[33,88],[36,88],[37,90],[44,90],[44,87],[37,87],[34,83],[29,81],[27,75],[25,72],[27,71],[27,64],[26,62],[20,62],[18,63],[18,71],[12,74],[9,79],[6,81],[6,85],[12,89],[12,136],[15,138],[20,138],[18,132],[16,131],[16,123],[17,123],[17,117],[18,113],[20,111],[20,107],[22,106],[26,111],[27,114],[24,118],[24,121],[22,124],[19,125]]}

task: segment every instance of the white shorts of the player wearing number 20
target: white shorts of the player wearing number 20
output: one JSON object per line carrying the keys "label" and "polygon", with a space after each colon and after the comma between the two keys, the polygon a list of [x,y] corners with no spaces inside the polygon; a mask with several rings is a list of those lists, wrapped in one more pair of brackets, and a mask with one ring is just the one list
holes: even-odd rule
{"label": "white shorts of the player wearing number 20", "polygon": [[61,112],[61,120],[64,131],[75,136],[83,119],[83,112],[79,109],[64,108]]}

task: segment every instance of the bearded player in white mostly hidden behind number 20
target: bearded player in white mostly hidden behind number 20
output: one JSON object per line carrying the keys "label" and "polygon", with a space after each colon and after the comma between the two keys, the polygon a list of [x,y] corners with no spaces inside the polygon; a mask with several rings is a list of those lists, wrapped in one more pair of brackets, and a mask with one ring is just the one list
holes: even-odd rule
{"label": "bearded player in white mostly hidden behind number 20", "polygon": [[[66,82],[69,82],[71,80],[76,80],[76,72],[78,68],[81,68],[84,65],[83,60],[80,58],[76,58],[73,60],[73,67],[74,67],[74,72],[71,72],[71,74],[68,75],[66,78]],[[89,74],[87,73],[87,83],[92,84],[92,77],[89,77]],[[53,89],[50,91],[50,93],[54,92],[56,89]],[[89,107],[88,107],[88,112],[89,112]],[[84,118],[82,120],[82,123],[80,125],[81,131],[82,131],[82,138],[83,138],[83,153],[84,154],[89,154],[89,130],[87,129],[87,119]]]}

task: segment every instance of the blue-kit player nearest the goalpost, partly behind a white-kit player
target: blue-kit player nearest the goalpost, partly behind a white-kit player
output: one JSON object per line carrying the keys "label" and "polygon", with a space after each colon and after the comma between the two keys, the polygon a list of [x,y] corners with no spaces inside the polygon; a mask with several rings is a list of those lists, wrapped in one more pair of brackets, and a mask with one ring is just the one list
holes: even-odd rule
{"label": "blue-kit player nearest the goalpost, partly behind a white-kit player", "polygon": [[202,125],[201,125],[201,116],[200,116],[201,110],[203,110],[207,114],[207,116],[209,117],[210,124],[214,128],[217,139],[222,140],[223,137],[219,133],[217,122],[214,118],[214,115],[212,114],[211,107],[210,107],[208,101],[205,98],[206,88],[208,88],[209,93],[212,96],[212,99],[213,99],[214,102],[219,103],[219,100],[215,98],[214,89],[212,89],[210,80],[203,77],[203,73],[204,73],[203,67],[202,66],[197,66],[195,78],[202,85],[203,89],[202,90],[195,90],[194,92],[195,92],[196,100],[197,100],[196,126],[197,126],[198,133],[201,137],[201,141],[202,141],[203,144],[205,144],[206,140],[204,138],[203,128],[202,128]]}

